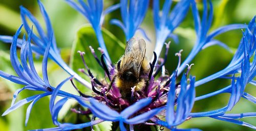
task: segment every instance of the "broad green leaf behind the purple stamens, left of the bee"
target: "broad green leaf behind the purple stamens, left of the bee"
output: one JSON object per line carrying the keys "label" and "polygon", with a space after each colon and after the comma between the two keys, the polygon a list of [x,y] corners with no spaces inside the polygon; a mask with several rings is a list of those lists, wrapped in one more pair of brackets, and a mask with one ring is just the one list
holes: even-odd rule
{"label": "broad green leaf behind the purple stamens, left of the bee", "polygon": [[[122,42],[120,42],[119,39],[116,38],[112,33],[110,33],[108,30],[104,28],[102,28],[102,34],[106,48],[110,54],[111,60],[113,63],[116,63],[123,54],[125,45]],[[102,80],[104,79],[104,70],[97,63],[96,59],[90,51],[89,46],[93,47],[97,57],[100,59],[101,53],[100,51],[98,51],[99,44],[95,32],[91,26],[84,25],[78,30],[75,41],[73,43],[70,66],[76,72],[78,72],[78,69],[84,68],[82,59],[80,55],[77,53],[77,51],[83,51],[86,53],[84,59],[92,74],[97,79]],[[87,81],[90,81],[90,78],[88,76],[80,72],[78,72],[78,75],[80,75]],[[82,92],[86,91],[86,88],[84,88],[82,84],[77,82],[76,85]]]}

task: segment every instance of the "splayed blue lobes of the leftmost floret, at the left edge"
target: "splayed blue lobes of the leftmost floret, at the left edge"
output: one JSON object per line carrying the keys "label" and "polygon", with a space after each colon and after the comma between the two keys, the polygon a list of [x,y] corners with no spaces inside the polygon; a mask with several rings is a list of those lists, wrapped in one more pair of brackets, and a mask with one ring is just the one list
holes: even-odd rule
{"label": "splayed blue lobes of the leftmost floret, at the left edge", "polygon": [[[22,29],[23,25],[19,27],[15,35],[13,36],[13,42],[11,45],[10,49],[10,57],[11,57],[11,63],[12,67],[17,73],[18,76],[13,76],[9,75],[3,71],[0,71],[0,76],[3,78],[6,78],[12,82],[15,82],[17,84],[23,84],[25,85],[24,88],[18,89],[15,91],[11,103],[11,107],[6,110],[2,116],[5,116],[12,112],[13,110],[16,110],[18,107],[31,102],[30,105],[27,108],[27,113],[26,113],[26,122],[25,124],[27,125],[31,109],[33,105],[42,97],[49,96],[52,94],[52,91],[55,90],[53,86],[50,85],[48,81],[48,75],[47,75],[47,61],[48,61],[48,55],[50,51],[50,45],[51,43],[49,42],[46,51],[44,54],[44,59],[42,60],[42,75],[43,79],[39,77],[37,74],[35,67],[34,67],[34,62],[33,62],[33,57],[32,57],[32,50],[31,50],[31,43],[30,39],[32,36],[32,30],[28,35],[28,41],[26,41],[26,36],[24,35],[22,45],[21,45],[21,50],[20,50],[20,60],[22,63],[18,61],[17,53],[16,53],[16,46],[17,46],[17,40],[18,40],[18,35],[20,33],[20,30]],[[52,38],[52,37],[51,37]],[[29,64],[27,63],[27,60],[29,61]],[[65,83],[68,79],[62,81],[58,86],[61,86],[63,83]],[[17,95],[22,92],[23,90],[32,90],[32,91],[42,91],[45,93],[42,94],[37,94],[25,99],[22,99],[18,102],[15,103]],[[58,92],[58,95],[62,96],[69,96],[69,93],[65,92]]]}

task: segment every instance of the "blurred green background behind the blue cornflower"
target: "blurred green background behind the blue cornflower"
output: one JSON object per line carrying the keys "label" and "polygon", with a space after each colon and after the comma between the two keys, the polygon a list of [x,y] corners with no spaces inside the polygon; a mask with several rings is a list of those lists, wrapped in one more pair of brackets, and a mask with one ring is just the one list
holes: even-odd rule
{"label": "blurred green background behind the blue cornflower", "polygon": [[[105,1],[105,7],[109,7],[113,3],[118,3],[119,1]],[[202,12],[202,2],[198,2],[198,8]],[[87,23],[87,20],[79,14],[77,11],[72,9],[65,1],[55,0],[55,1],[42,1],[45,8],[50,16],[51,23],[54,29],[54,34],[57,41],[57,46],[61,50],[62,58],[69,63],[71,55],[71,47],[73,41],[76,37],[76,32],[79,28]],[[161,1],[163,3],[163,1]],[[220,26],[227,24],[248,24],[250,19],[256,14],[255,6],[256,1],[254,0],[216,0],[212,1],[214,4],[214,21],[210,30],[214,30]],[[36,1],[0,1],[0,34],[1,35],[14,35],[15,31],[21,24],[19,16],[19,6],[23,5],[29,9],[32,14],[40,21],[41,25],[44,27],[44,21],[40,15],[38,5]],[[104,27],[113,33],[116,38],[124,42],[124,35],[121,29],[116,26],[110,25],[109,20],[112,18],[120,18],[119,10],[114,11],[105,18]],[[182,60],[186,58],[190,50],[193,48],[196,35],[194,31],[194,21],[189,10],[187,17],[183,21],[180,27],[175,30],[175,33],[179,35],[179,44],[174,44],[172,39],[170,45],[169,56],[166,63],[166,69],[171,73],[176,67],[178,58],[174,56],[176,52],[183,49]],[[148,9],[148,13],[145,17],[142,28],[150,36],[152,43],[147,43],[147,54],[151,57],[152,50],[154,48],[155,33],[153,28],[152,19],[152,2]],[[138,34],[139,36],[140,34]],[[239,45],[239,41],[242,36],[241,30],[234,30],[224,33],[217,37],[217,39],[225,42],[232,49],[232,53],[226,51],[225,49],[213,46],[201,51],[196,58],[193,60],[195,65],[193,66],[190,74],[196,76],[196,79],[202,79],[208,75],[211,75],[221,69],[224,69],[232,58],[233,53]],[[90,43],[91,45],[95,43]],[[97,47],[97,46],[96,46]],[[9,58],[9,48],[10,45],[0,42],[0,70],[3,70],[9,74],[15,74],[12,70]],[[117,58],[121,54],[116,54]],[[116,59],[114,59],[115,61]],[[35,59],[35,65],[38,69],[39,74],[41,69],[41,58]],[[93,68],[93,67],[92,67]],[[48,63],[48,73],[50,83],[56,86],[60,81],[68,77],[68,74],[60,69],[53,61],[49,60]],[[58,76],[58,77],[56,77]],[[218,89],[224,88],[226,85],[230,84],[230,80],[217,79],[208,82],[204,85],[199,86],[196,89],[197,96],[216,91]],[[0,114],[10,106],[12,95],[15,90],[22,88],[21,85],[14,84],[3,78],[0,78]],[[256,92],[253,91],[252,85],[247,85],[246,92],[256,96]],[[76,93],[71,84],[67,82],[63,87],[63,90],[69,91],[71,93]],[[82,90],[82,89],[81,89]],[[37,92],[24,91],[18,96],[18,100],[36,94]],[[216,110],[218,108],[224,107],[229,99],[229,94],[222,94],[205,100],[200,100],[195,103],[193,112],[204,112],[210,110]],[[28,129],[38,129],[54,127],[50,112],[49,112],[49,98],[42,98],[33,107],[28,125],[25,126],[25,115],[28,104],[22,106],[15,110],[14,112],[8,114],[7,116],[0,117],[0,130],[28,130]],[[72,105],[72,101],[69,101],[69,105]],[[70,107],[65,106],[60,113],[60,117],[64,118],[65,112],[68,111]],[[65,111],[66,110],[66,111]],[[255,104],[241,99],[240,102],[233,108],[231,112],[228,113],[246,113],[255,112]],[[70,118],[70,119],[75,119]],[[255,118],[243,119],[251,124],[255,123]],[[189,121],[184,122],[180,127],[184,128],[200,128],[202,130],[252,130],[248,127],[239,126],[236,124],[218,121],[211,118],[193,118]]]}

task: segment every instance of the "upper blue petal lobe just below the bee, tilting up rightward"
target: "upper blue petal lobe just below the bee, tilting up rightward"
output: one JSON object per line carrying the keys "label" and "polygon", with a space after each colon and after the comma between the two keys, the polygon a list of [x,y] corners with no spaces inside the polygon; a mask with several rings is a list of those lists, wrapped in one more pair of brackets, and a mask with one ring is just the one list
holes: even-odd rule
{"label": "upper blue petal lobe just below the bee, tilting up rightward", "polygon": [[122,112],[121,112],[121,116],[123,118],[128,118],[131,115],[133,115],[134,113],[138,112],[139,110],[141,110],[143,107],[147,106],[148,104],[150,104],[152,101],[152,98],[144,98],[141,99],[139,101],[137,101],[136,103],[134,103],[133,105],[130,105],[129,107],[125,108]]}

